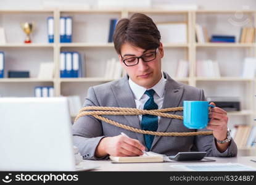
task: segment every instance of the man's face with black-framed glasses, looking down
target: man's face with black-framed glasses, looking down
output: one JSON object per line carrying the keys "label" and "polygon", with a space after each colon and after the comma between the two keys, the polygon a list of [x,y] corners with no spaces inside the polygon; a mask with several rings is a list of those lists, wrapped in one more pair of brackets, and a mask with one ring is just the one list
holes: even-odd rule
{"label": "man's face with black-framed glasses, looking down", "polygon": [[[161,59],[163,57],[163,46],[160,44],[159,49],[157,49],[157,54],[154,60],[150,62],[144,62],[142,59],[139,59],[139,64],[133,66],[126,66],[123,63],[124,59],[129,59],[131,57],[139,57],[141,55],[150,55],[151,52],[154,52],[155,49],[144,50],[139,47],[133,46],[129,43],[123,44],[121,47],[121,55],[119,55],[120,62],[125,68],[126,73],[129,75],[131,80],[134,83],[142,86],[146,89],[152,88],[155,84],[161,79]],[[138,59],[136,59],[138,60]]]}

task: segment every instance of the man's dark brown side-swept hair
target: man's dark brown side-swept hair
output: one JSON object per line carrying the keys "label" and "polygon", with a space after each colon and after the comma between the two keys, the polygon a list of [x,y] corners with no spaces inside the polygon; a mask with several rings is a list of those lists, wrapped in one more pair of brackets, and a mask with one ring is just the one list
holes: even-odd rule
{"label": "man's dark brown side-swept hair", "polygon": [[114,46],[117,54],[125,43],[145,50],[160,46],[160,32],[153,20],[144,14],[133,14],[130,19],[120,19],[114,32]]}

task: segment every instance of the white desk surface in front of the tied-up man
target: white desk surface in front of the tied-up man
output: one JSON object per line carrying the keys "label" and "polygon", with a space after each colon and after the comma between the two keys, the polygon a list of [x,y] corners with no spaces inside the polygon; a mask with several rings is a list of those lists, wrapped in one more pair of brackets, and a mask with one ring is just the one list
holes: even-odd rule
{"label": "white desk surface in front of the tied-up man", "polygon": [[[204,163],[240,163],[249,167],[256,168],[256,156],[252,157],[208,157],[215,159],[215,162],[197,162]],[[186,164],[195,164],[196,162],[186,162]],[[82,165],[97,165],[93,171],[183,171],[181,168],[173,168],[171,165],[184,164],[184,162],[163,162],[163,163],[111,163],[110,160],[83,160]]]}

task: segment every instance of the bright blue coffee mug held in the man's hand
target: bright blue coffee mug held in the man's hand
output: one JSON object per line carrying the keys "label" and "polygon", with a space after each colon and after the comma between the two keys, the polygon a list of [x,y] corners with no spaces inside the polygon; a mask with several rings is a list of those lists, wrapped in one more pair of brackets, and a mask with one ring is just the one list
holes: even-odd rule
{"label": "bright blue coffee mug held in the man's hand", "polygon": [[209,107],[207,101],[183,101],[183,124],[187,128],[205,128],[209,122]]}

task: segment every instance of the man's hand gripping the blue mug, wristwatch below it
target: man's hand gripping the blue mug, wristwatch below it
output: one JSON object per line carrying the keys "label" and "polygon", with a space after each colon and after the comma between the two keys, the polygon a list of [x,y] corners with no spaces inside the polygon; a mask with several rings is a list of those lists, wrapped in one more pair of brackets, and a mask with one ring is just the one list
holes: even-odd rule
{"label": "man's hand gripping the blue mug, wristwatch below it", "polygon": [[[213,102],[211,105],[215,105]],[[212,108],[212,111],[209,112],[210,121],[207,125],[207,129],[213,131],[214,138],[218,140],[224,140],[227,137],[228,133],[228,115],[225,110],[220,109],[219,107]],[[217,149],[220,152],[224,152],[228,148],[228,142],[220,144],[217,143]]]}

